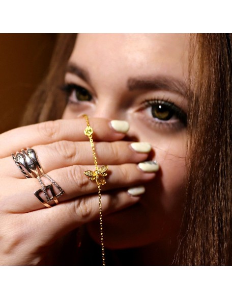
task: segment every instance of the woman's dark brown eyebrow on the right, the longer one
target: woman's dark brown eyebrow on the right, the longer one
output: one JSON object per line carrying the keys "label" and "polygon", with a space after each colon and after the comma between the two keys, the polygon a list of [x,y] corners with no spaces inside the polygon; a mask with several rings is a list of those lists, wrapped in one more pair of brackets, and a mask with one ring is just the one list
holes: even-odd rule
{"label": "woman's dark brown eyebrow on the right, the longer one", "polygon": [[130,78],[127,88],[133,90],[166,90],[179,93],[184,97],[192,98],[193,92],[184,81],[167,76],[156,76],[148,78]]}

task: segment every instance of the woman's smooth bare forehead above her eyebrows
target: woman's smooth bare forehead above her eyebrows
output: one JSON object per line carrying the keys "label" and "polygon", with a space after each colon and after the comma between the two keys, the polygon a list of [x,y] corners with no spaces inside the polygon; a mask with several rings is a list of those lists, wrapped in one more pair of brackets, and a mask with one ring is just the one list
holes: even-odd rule
{"label": "woman's smooth bare forehead above her eyebrows", "polygon": [[[188,34],[78,34],[70,61],[91,76],[188,74]],[[119,75],[120,74],[120,75]]]}

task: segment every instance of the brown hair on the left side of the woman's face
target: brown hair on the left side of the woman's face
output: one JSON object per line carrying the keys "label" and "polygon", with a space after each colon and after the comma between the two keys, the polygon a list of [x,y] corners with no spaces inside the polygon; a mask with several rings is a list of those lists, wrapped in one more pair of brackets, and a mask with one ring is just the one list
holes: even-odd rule
{"label": "brown hair on the left side of the woman's face", "polygon": [[32,95],[21,126],[62,117],[67,103],[61,87],[64,85],[67,61],[75,40],[76,34],[57,36],[47,76]]}

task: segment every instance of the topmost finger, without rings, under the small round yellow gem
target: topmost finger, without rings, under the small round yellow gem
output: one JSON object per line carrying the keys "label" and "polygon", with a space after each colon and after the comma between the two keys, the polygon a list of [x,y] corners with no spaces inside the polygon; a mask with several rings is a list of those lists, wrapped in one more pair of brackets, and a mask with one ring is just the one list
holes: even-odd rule
{"label": "topmost finger, without rings, under the small round yellow gem", "polygon": [[[109,120],[105,118],[90,118],[90,125],[94,129],[96,141],[120,140],[129,130],[127,121]],[[40,144],[49,144],[56,141],[86,141],[84,135],[86,122],[83,117],[76,119],[58,119],[20,127],[0,135],[0,157],[7,157],[11,153],[20,152],[22,148]]]}

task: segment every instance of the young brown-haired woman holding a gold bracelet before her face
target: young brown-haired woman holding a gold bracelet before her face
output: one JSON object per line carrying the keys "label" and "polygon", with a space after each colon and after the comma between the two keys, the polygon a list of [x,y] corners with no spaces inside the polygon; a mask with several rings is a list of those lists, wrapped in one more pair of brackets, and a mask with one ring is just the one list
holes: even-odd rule
{"label": "young brown-haired woman holding a gold bracelet before her face", "polygon": [[230,82],[229,34],[61,35],[31,125],[0,137],[1,264],[101,264],[83,114],[106,265],[231,264]]}

